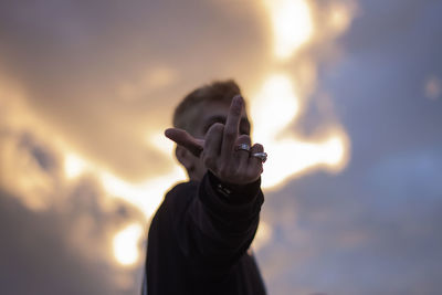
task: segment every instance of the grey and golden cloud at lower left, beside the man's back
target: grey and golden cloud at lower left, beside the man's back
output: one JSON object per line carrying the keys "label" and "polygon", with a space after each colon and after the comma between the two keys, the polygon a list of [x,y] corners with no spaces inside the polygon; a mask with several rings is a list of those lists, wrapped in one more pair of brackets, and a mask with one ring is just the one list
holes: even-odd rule
{"label": "grey and golden cloud at lower left, beside the man's back", "polygon": [[143,213],[107,200],[93,176],[66,183],[60,155],[31,129],[1,130],[0,293],[138,293],[140,264],[118,265],[112,239]]}

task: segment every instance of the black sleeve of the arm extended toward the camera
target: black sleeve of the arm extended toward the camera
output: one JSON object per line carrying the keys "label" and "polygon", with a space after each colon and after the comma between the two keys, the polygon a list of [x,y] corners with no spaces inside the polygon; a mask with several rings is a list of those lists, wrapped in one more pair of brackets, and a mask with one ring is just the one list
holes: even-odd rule
{"label": "black sleeve of the arm extended toward the camera", "polygon": [[229,270],[249,249],[264,201],[260,185],[261,179],[225,186],[208,172],[198,188],[188,191],[197,196],[185,198],[189,201],[181,210],[173,210],[177,243],[196,268]]}

